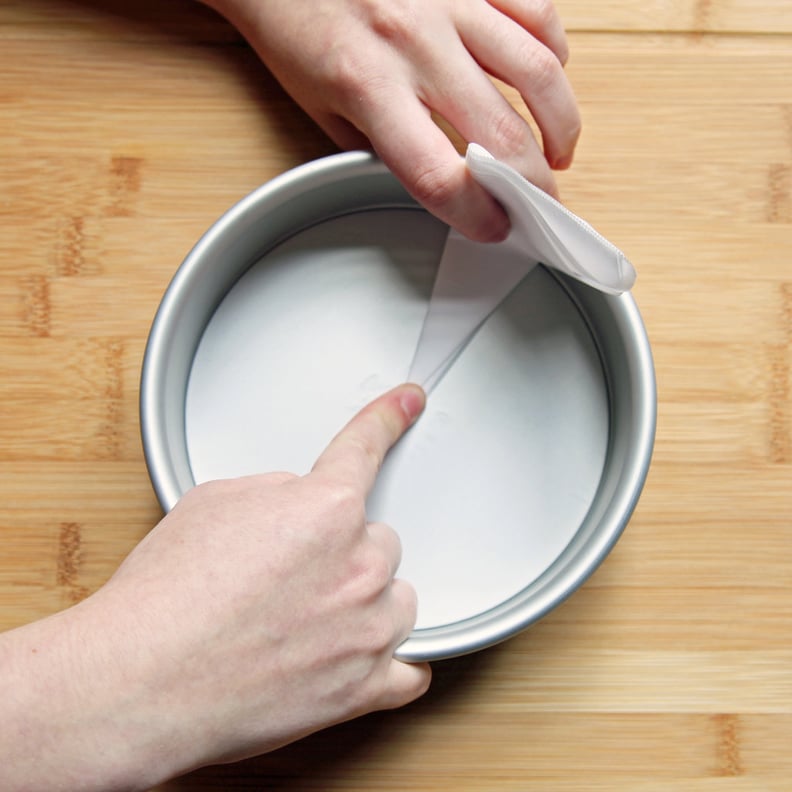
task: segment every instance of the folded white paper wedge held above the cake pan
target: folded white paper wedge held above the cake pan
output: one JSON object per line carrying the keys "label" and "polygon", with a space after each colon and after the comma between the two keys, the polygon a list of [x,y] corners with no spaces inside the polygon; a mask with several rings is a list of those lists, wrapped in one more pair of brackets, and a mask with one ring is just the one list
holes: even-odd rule
{"label": "folded white paper wedge held above the cake pan", "polygon": [[449,231],[407,377],[427,392],[537,264],[609,294],[621,294],[635,282],[635,269],[618,248],[516,170],[476,144],[468,147],[465,161],[503,205],[511,231],[497,244]]}

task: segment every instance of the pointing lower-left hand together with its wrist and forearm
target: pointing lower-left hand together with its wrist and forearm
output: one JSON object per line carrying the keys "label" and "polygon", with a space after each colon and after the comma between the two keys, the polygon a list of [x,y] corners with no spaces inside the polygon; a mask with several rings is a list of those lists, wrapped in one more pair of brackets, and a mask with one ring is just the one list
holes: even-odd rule
{"label": "pointing lower-left hand together with its wrist and forearm", "polygon": [[[394,579],[399,539],[367,523],[365,499],[424,403],[415,385],[381,396],[306,476],[195,487],[96,594],[2,636],[21,677],[6,680],[5,726],[43,758],[10,751],[0,786],[44,788],[31,780],[44,773],[51,790],[149,788],[420,696],[429,666],[393,657],[415,592]],[[44,646],[54,663],[33,671]]]}

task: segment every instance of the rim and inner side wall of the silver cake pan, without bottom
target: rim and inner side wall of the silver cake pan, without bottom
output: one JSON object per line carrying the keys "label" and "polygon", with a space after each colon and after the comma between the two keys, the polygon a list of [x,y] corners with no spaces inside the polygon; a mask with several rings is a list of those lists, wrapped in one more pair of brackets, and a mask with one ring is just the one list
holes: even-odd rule
{"label": "rim and inner side wall of the silver cake pan, without bottom", "polygon": [[[196,484],[186,420],[188,388],[207,328],[235,286],[249,277],[262,258],[323,224],[351,222],[354,227],[360,217],[360,225],[369,226],[372,213],[377,212],[396,212],[398,222],[402,211],[411,213],[405,217],[424,218],[419,225],[429,229],[433,244],[441,238],[432,230],[432,223],[438,221],[415,203],[379,160],[364,152],[338,154],[298,167],[265,184],[221,217],[190,252],[159,306],[142,371],[143,446],[164,510],[173,508]],[[407,234],[410,233],[408,229]],[[607,413],[595,433],[604,438],[601,470],[581,519],[564,528],[568,536],[564,537],[563,546],[538,573],[526,572],[524,585],[502,601],[487,604],[481,612],[419,625],[397,651],[397,656],[406,661],[477,651],[515,635],[547,614],[576,591],[605,559],[626,527],[643,489],[654,443],[656,388],[651,350],[636,303],[630,294],[609,296],[546,270],[541,278],[541,283],[537,281],[540,286],[544,283],[543,288],[563,293],[563,299],[572,306],[571,311],[590,334],[592,354],[601,369]],[[548,286],[551,281],[554,285]],[[523,311],[520,304],[516,309]],[[525,310],[531,310],[530,306]],[[482,375],[492,376],[491,372]],[[266,371],[262,377],[266,382]],[[280,382],[279,387],[288,388],[289,383]],[[432,394],[430,404],[434,398]],[[585,401],[585,389],[572,398]],[[552,445],[554,432],[562,428],[552,423],[533,425],[548,445]],[[266,445],[267,438],[261,437],[259,442]],[[520,442],[524,443],[524,439]],[[564,452],[570,459],[576,455],[571,448]],[[471,452],[475,454],[475,448]],[[234,460],[224,460],[220,455],[213,464],[215,461],[221,474],[226,469],[228,475],[237,474]],[[224,468],[226,461],[228,466]],[[488,464],[497,466],[498,460]],[[269,469],[275,468],[283,469],[280,465]],[[519,473],[511,471],[517,480]],[[532,482],[527,480],[519,487],[528,491]],[[566,495],[556,485],[554,497],[563,500]],[[453,493],[448,497],[453,497]],[[458,543],[464,541],[463,533]],[[437,555],[441,557],[429,559],[430,568],[432,564],[438,569],[453,564],[453,553],[442,551]],[[487,563],[496,567],[488,575],[497,577],[497,555]],[[461,594],[462,584],[459,585],[459,592],[447,592],[448,602]],[[476,580],[469,580],[465,588],[475,590],[476,585]],[[420,603],[422,592],[417,588]]]}

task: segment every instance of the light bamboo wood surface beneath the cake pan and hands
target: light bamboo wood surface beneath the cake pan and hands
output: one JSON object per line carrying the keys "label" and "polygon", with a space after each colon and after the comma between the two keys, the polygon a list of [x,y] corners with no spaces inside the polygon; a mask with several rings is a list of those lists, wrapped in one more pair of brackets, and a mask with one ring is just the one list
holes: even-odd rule
{"label": "light bamboo wood surface beneath the cake pan and hands", "polygon": [[[634,518],[413,706],[162,790],[792,790],[792,5],[557,5],[584,117],[561,189],[636,263],[656,359]],[[162,293],[226,208],[333,150],[197,4],[0,2],[0,627],[159,519],[137,397]]]}

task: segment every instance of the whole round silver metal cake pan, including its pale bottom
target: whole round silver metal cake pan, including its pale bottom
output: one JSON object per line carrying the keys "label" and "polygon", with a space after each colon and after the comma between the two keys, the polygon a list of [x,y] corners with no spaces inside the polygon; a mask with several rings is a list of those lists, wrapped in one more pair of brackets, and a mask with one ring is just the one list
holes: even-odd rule
{"label": "whole round silver metal cake pan, including its pale bottom", "polygon": [[[446,229],[366,154],[311,163],[223,217],[177,272],[141,389],[163,508],[196,482],[307,472],[402,381]],[[369,502],[404,545],[436,659],[503,640],[593,572],[637,502],[654,437],[630,296],[538,268],[431,394]]]}

